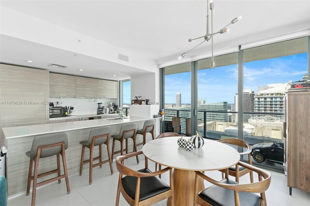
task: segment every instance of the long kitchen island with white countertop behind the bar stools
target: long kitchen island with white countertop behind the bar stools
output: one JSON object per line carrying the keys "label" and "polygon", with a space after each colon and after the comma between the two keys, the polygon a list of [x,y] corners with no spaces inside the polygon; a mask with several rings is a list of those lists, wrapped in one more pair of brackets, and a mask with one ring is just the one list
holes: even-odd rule
{"label": "long kitchen island with white countertop behind the bar stools", "polygon": [[[26,156],[26,151],[31,149],[32,140],[35,135],[66,132],[68,135],[68,148],[65,150],[67,169],[70,176],[78,174],[82,147],[80,141],[87,140],[90,130],[95,127],[111,126],[112,134],[118,134],[121,125],[124,123],[135,122],[137,128],[143,127],[145,120],[150,118],[110,118],[93,119],[87,121],[72,121],[51,124],[39,124],[20,127],[3,128],[5,135],[5,145],[8,148],[6,158],[6,177],[8,182],[8,195],[12,196],[18,193],[26,192],[27,177],[30,159]],[[151,137],[147,137],[151,138]],[[137,136],[137,143],[142,141],[140,135]],[[132,150],[132,141],[128,142],[129,151]],[[112,148],[112,141],[110,141]],[[115,145],[115,149],[120,149],[120,144]],[[139,148],[138,148],[139,149]],[[94,149],[94,156],[97,156],[99,149]],[[116,157],[116,156],[114,156]],[[89,159],[89,150],[85,150],[85,159]],[[107,150],[103,149],[103,159],[108,159]],[[56,157],[47,157],[40,159],[39,173],[47,172],[56,168]],[[84,169],[89,166],[84,165]],[[63,174],[63,171],[62,171]],[[87,172],[83,173],[88,175]],[[52,175],[51,175],[52,176]],[[46,180],[50,176],[40,178],[40,181]]]}

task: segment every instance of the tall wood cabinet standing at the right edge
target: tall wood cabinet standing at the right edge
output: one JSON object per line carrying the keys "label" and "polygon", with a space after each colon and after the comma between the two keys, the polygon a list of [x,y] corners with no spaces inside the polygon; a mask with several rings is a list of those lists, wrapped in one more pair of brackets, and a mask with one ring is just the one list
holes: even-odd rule
{"label": "tall wood cabinet standing at the right edge", "polygon": [[310,191],[310,91],[292,91],[285,97],[284,171],[287,185]]}

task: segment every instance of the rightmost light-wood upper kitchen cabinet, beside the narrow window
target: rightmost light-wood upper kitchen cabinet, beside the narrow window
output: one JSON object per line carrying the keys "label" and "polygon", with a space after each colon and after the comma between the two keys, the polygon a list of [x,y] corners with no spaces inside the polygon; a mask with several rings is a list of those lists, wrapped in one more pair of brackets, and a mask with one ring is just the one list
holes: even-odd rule
{"label": "rightmost light-wood upper kitchen cabinet, beside the narrow window", "polygon": [[118,82],[98,79],[98,97],[118,99]]}

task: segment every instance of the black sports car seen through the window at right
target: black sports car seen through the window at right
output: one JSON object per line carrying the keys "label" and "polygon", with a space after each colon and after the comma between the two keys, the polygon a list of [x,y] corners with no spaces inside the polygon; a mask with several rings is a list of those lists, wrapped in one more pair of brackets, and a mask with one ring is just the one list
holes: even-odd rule
{"label": "black sports car seen through the window at right", "polygon": [[282,143],[259,143],[251,148],[251,155],[256,162],[264,162],[266,159],[274,162],[283,162]]}

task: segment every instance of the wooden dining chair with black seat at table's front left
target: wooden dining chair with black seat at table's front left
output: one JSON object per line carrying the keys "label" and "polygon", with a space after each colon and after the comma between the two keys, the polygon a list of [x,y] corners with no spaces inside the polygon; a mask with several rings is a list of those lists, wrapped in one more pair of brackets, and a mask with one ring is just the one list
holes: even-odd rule
{"label": "wooden dining chair with black seat at table's front left", "polygon": [[[124,166],[124,160],[142,154],[142,151],[132,152],[116,158],[116,167],[120,172],[115,206],[119,205],[120,193],[131,206],[148,206],[171,197],[171,205],[174,205],[173,198],[173,177],[172,168],[167,167],[157,172],[148,169],[148,159],[145,157],[145,168],[138,171]],[[170,186],[156,177],[159,174],[170,172]],[[125,177],[123,177],[125,176]]]}

